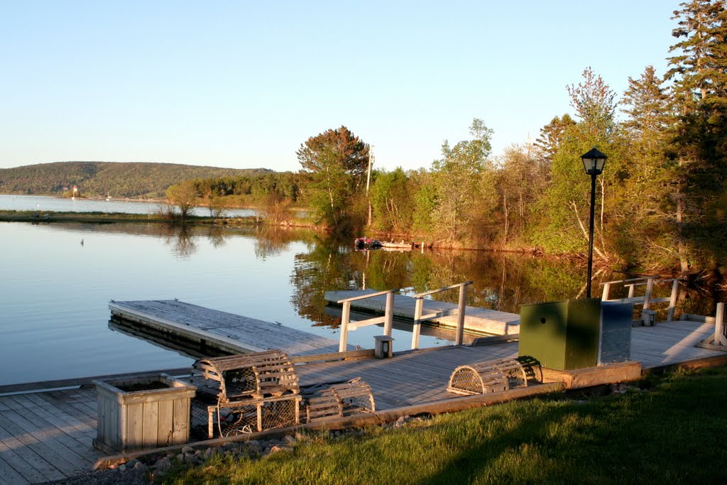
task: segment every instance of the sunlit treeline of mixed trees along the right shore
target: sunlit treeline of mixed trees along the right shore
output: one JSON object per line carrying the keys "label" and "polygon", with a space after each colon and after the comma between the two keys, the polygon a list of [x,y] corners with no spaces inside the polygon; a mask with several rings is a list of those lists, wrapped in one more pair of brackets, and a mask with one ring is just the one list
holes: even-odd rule
{"label": "sunlit treeline of mixed trees along the right shore", "polygon": [[346,127],[329,129],[297,151],[297,196],[316,223],[334,231],[583,253],[590,176],[580,156],[597,147],[608,161],[598,177],[595,257],[628,268],[709,270],[721,277],[727,12],[723,1],[689,1],[675,19],[666,73],[647,66],[616,93],[586,68],[566,87],[574,118],[555,116],[531,145],[494,156],[491,130],[475,119],[470,140],[444,143],[430,169],[375,171],[369,181],[369,145]]}

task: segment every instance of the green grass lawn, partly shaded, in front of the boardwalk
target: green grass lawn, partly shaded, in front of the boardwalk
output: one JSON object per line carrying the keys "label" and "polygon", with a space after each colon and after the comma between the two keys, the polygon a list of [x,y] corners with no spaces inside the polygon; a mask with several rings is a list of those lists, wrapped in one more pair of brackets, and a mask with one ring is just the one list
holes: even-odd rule
{"label": "green grass lawn, partly shaded, in front of the boardwalk", "polygon": [[[177,468],[174,484],[718,483],[727,369],[678,372],[623,395],[553,396],[445,414],[292,452]],[[327,435],[326,435],[327,436]]]}

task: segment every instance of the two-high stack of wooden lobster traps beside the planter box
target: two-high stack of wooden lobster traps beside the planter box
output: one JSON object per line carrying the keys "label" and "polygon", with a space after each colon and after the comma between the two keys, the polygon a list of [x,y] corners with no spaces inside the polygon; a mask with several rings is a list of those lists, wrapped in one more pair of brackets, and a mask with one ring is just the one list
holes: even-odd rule
{"label": "two-high stack of wooden lobster traps beside the planter box", "polygon": [[280,350],[201,358],[193,364],[198,414],[206,412],[207,436],[250,433],[300,423],[295,367]]}

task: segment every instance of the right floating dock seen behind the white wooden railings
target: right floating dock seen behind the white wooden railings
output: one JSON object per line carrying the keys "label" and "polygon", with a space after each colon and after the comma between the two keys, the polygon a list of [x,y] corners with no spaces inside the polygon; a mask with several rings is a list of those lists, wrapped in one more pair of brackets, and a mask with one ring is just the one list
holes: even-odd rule
{"label": "right floating dock seen behind the white wooden railings", "polygon": [[[364,294],[376,293],[373,289],[350,290],[344,292],[326,292],[326,301],[331,305],[346,298],[358,297]],[[403,294],[394,297],[394,317],[404,320],[414,320],[414,307],[416,299]],[[351,309],[375,314],[383,314],[386,308],[386,297],[367,298],[352,302]],[[436,300],[424,300],[426,313],[456,310],[457,303],[440,302]],[[448,329],[457,328],[457,316],[444,316],[432,320],[438,326]],[[465,308],[465,332],[491,335],[510,335],[520,332],[520,316],[517,313],[507,313],[486,308],[471,307]]]}

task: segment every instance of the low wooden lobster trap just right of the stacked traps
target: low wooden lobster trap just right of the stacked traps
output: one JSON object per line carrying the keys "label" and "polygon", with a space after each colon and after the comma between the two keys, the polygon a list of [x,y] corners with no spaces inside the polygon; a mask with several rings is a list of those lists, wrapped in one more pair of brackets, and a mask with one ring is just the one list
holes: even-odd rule
{"label": "low wooden lobster trap just right of the stacked traps", "polygon": [[356,377],[329,385],[310,396],[306,401],[305,417],[306,422],[321,422],[375,411],[371,386]]}

